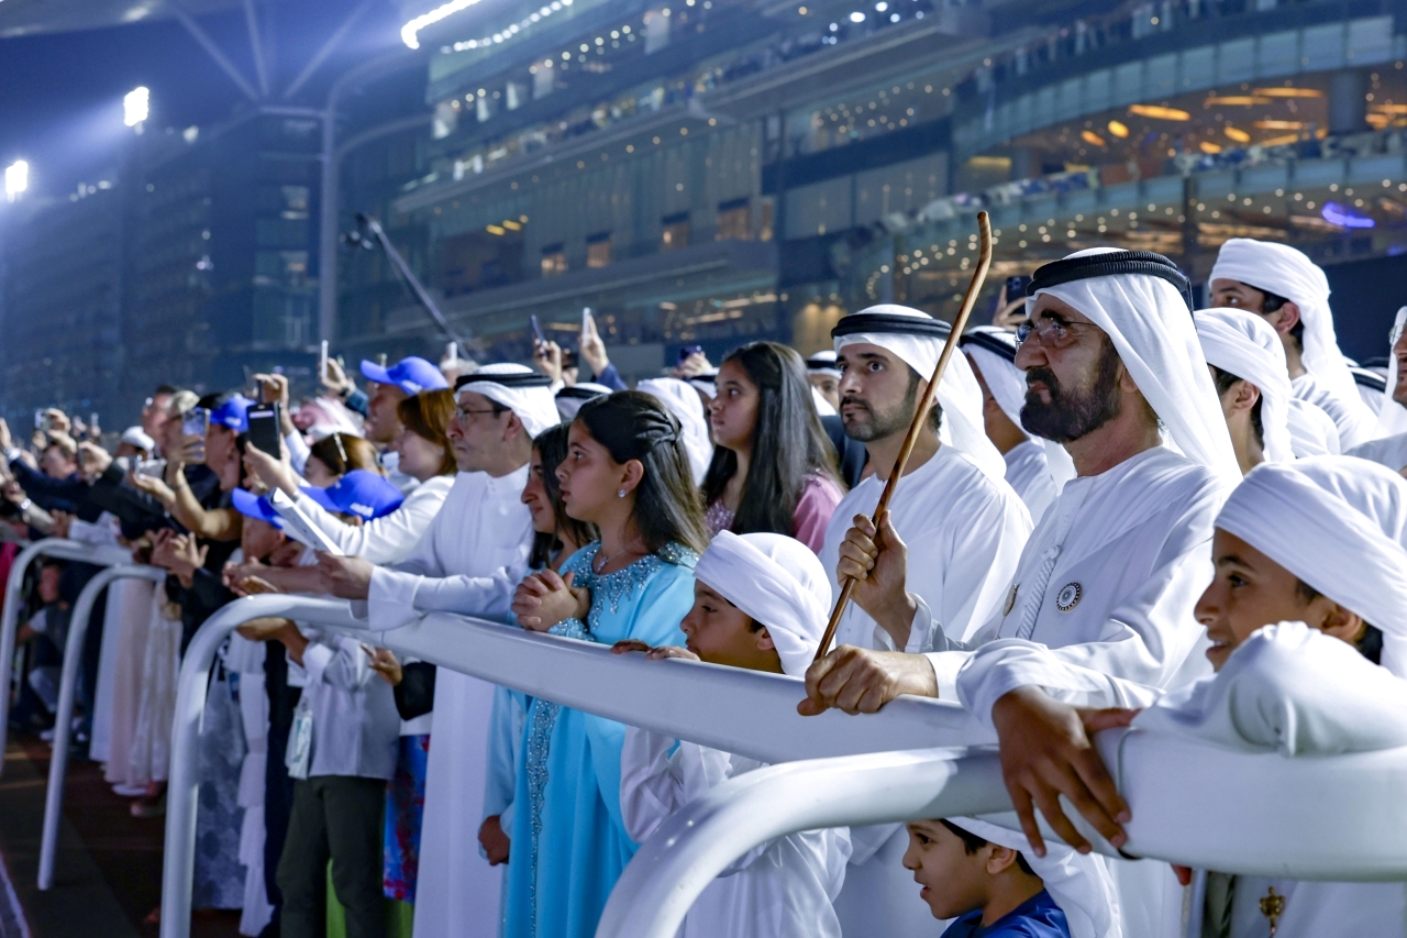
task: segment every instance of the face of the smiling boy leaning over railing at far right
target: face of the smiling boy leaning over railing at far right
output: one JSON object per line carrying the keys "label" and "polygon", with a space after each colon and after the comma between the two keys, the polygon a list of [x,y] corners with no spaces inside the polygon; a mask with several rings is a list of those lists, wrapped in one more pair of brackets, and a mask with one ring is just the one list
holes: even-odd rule
{"label": "face of the smiling boy leaning over railing at far right", "polygon": [[1207,659],[1221,670],[1251,634],[1282,621],[1303,621],[1346,642],[1358,639],[1363,620],[1327,596],[1306,599],[1299,577],[1261,551],[1221,528],[1211,539],[1216,576],[1197,600],[1195,614],[1207,630]]}

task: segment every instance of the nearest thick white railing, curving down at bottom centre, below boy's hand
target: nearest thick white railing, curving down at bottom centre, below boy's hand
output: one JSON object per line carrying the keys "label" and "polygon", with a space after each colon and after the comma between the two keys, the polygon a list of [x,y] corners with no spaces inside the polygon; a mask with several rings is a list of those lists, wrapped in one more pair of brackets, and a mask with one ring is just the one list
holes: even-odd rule
{"label": "nearest thick white railing, curving down at bottom centre, below boy's hand", "polygon": [[[1252,876],[1407,879],[1407,748],[1285,758],[1140,730],[1102,732],[1096,745],[1133,813],[1123,848],[1130,856]],[[1349,789],[1352,799],[1323,797]],[[1002,810],[1010,810],[1010,799],[989,749],[758,769],[685,806],[640,846],[597,937],[671,938],[715,876],[775,837]],[[1065,811],[1096,849],[1119,856],[1068,803]]]}

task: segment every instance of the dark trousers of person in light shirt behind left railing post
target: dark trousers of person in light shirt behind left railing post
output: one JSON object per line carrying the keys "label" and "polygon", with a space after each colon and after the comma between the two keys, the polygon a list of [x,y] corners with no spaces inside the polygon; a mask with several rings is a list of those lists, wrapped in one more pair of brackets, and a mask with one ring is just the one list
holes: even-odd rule
{"label": "dark trousers of person in light shirt behind left railing post", "polygon": [[384,938],[381,892],[386,782],[340,775],[298,779],[279,861],[283,938],[324,938],[328,859],[348,938]]}

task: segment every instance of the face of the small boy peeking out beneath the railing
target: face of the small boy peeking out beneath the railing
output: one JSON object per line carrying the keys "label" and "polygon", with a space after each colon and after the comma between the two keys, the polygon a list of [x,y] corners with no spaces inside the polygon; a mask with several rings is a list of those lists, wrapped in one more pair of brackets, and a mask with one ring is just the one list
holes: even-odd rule
{"label": "face of the small boy peeking out beneath the railing", "polygon": [[1016,863],[1016,851],[988,842],[968,853],[962,838],[938,821],[910,821],[905,869],[923,889],[934,918],[957,918],[991,901],[992,877]]}

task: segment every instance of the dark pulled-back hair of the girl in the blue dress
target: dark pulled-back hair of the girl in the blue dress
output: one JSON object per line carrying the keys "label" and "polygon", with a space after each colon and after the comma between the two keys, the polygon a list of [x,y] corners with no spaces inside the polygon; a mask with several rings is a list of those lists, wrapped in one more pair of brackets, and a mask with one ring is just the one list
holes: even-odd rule
{"label": "dark pulled-back hair of the girl in the blue dress", "polygon": [[632,521],[646,549],[658,554],[673,541],[702,554],[708,545],[704,503],[674,414],[650,394],[616,392],[588,400],[574,423],[585,427],[616,463],[636,459],[644,466]]}

